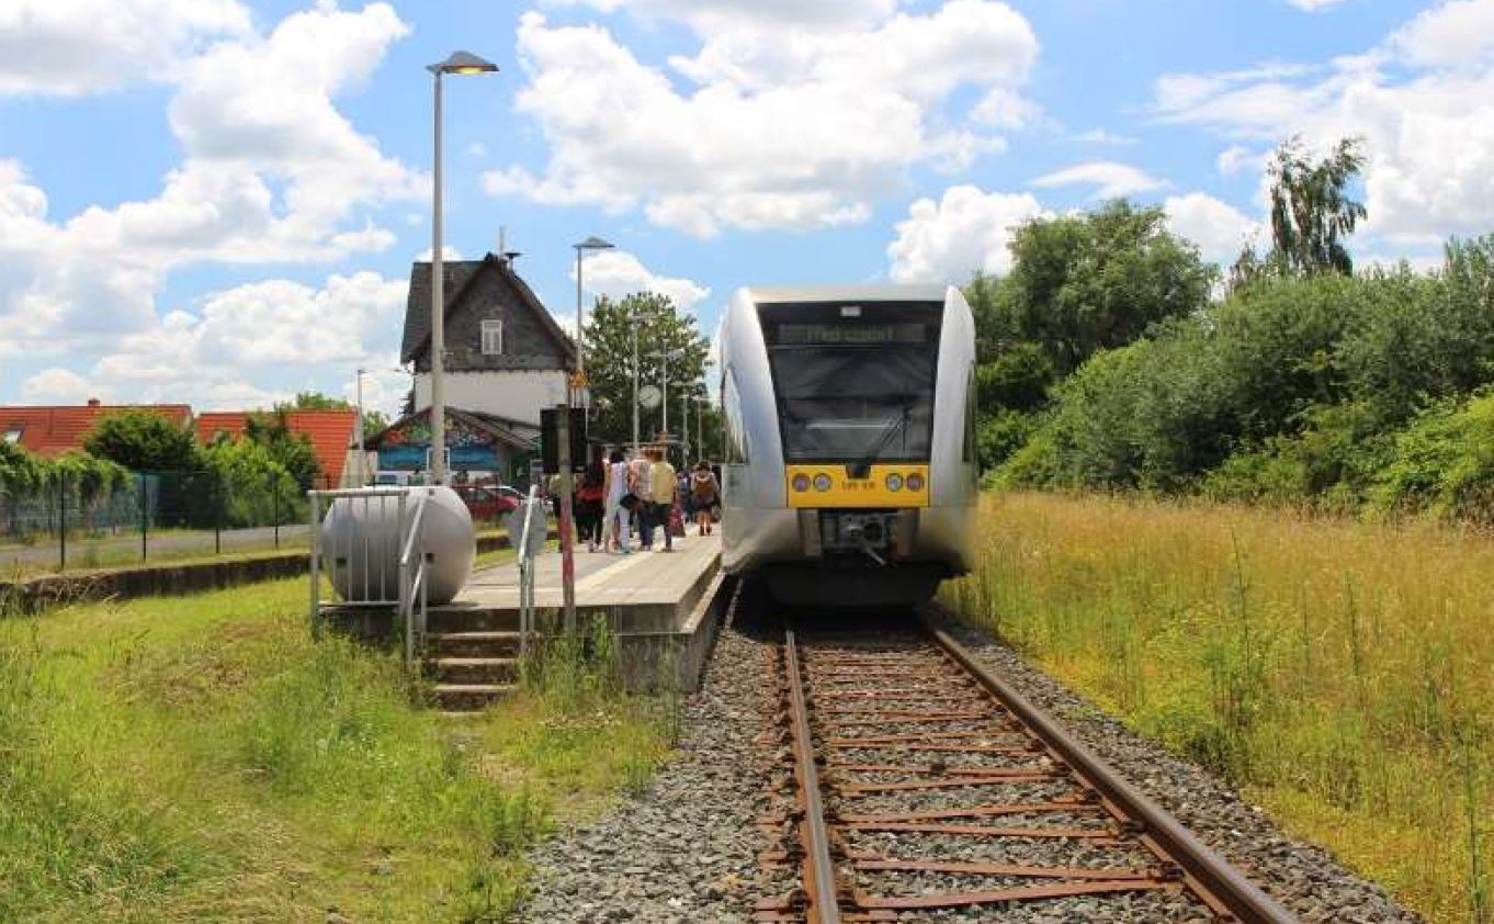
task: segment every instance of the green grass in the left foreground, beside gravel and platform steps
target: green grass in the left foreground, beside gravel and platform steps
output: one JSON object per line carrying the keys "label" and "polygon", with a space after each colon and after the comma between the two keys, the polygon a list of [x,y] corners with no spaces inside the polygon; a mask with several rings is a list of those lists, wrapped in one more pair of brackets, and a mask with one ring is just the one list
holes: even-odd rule
{"label": "green grass in the left foreground, beside gravel and platform steps", "polygon": [[500,920],[523,848],[668,749],[599,680],[459,721],[420,697],[309,638],[305,579],[0,620],[0,920]]}

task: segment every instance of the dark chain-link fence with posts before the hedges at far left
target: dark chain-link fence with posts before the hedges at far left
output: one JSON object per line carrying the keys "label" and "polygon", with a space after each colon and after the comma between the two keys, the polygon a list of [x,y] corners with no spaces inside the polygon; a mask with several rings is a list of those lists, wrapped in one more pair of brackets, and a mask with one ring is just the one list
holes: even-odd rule
{"label": "dark chain-link fence with posts before the hedges at far left", "polygon": [[305,549],[306,516],[303,487],[284,472],[134,472],[109,486],[67,472],[27,486],[0,480],[0,571]]}

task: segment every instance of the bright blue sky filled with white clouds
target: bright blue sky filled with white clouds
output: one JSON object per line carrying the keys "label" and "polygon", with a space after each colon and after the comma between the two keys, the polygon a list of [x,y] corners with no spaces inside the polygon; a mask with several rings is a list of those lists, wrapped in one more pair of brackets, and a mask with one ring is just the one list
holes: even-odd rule
{"label": "bright blue sky filled with white clouds", "polygon": [[1285,138],[1363,139],[1364,262],[1494,232],[1494,0],[4,0],[0,404],[393,411],[411,262],[500,229],[569,329],[964,283],[1128,196],[1228,265]]}

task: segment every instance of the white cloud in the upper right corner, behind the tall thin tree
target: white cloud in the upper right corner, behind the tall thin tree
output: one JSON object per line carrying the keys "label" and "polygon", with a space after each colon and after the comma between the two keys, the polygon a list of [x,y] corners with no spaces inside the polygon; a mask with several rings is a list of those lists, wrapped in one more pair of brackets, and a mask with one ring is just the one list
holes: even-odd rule
{"label": "white cloud in the upper right corner, behind the tall thin tree", "polygon": [[[1313,148],[1364,139],[1367,245],[1487,233],[1494,214],[1494,1],[1443,3],[1363,55],[1158,81],[1165,121]],[[1479,61],[1484,61],[1479,64]]]}

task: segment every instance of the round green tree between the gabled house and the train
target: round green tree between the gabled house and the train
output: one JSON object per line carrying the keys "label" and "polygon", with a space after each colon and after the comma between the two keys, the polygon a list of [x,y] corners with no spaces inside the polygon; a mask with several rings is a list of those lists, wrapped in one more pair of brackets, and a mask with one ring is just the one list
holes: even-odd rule
{"label": "round green tree between the gabled house and the train", "polygon": [[[633,362],[633,341],[638,362]],[[583,329],[586,374],[592,384],[593,440],[626,443],[633,432],[633,371],[639,386],[662,386],[668,369],[669,429],[680,432],[680,398],[687,386],[701,381],[710,344],[696,329],[695,318],[681,314],[669,298],[635,293],[614,301],[596,299]],[[668,357],[668,359],[666,359]],[[639,437],[659,432],[659,408],[639,410]],[[695,420],[690,420],[692,426]]]}

